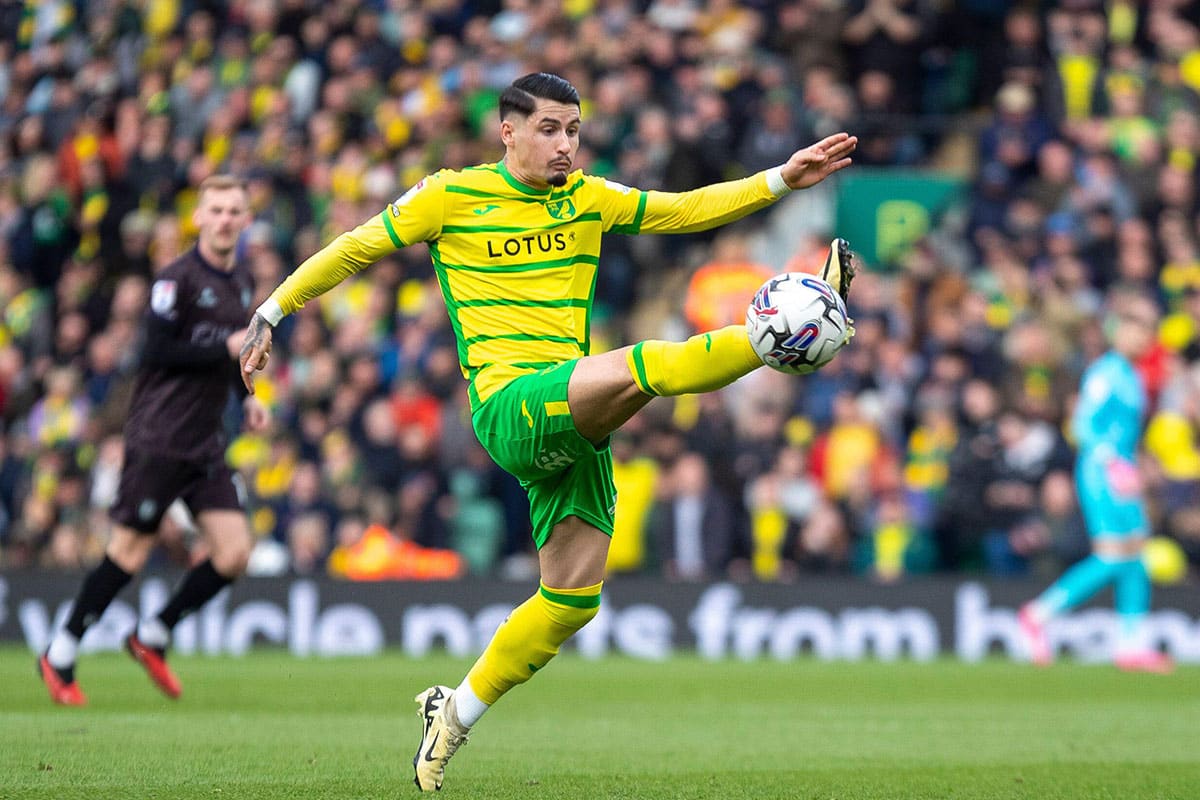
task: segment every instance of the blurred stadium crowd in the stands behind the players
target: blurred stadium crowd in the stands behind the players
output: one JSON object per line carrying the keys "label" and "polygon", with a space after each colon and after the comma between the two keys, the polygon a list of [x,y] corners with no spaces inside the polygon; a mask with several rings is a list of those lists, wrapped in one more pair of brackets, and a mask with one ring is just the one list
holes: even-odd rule
{"label": "blurred stadium crowd in the stands behind the players", "polygon": [[[854,169],[971,187],[866,265],[829,367],[659,399],[617,435],[613,572],[1057,571],[1087,551],[1064,420],[1118,283],[1162,302],[1144,467],[1156,533],[1200,559],[1196,5],[0,2],[0,567],[100,558],[139,319],[200,180],[248,182],[257,306],[422,175],[497,158],[498,92],[529,71],[584,97],[584,169],[641,188],[750,174],[838,130],[860,138]],[[816,266],[838,231],[756,247],[785,212],[612,236],[594,350],[736,320],[763,277]],[[523,492],[470,432],[422,247],[276,344],[274,427],[229,447],[252,570],[529,575]],[[186,515],[164,525],[160,564],[200,557]]]}

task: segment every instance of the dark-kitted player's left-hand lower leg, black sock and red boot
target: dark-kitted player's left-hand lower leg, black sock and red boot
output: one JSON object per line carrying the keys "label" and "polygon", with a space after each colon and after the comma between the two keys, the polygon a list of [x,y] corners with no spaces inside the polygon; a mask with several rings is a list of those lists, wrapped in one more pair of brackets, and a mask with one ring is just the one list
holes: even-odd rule
{"label": "dark-kitted player's left-hand lower leg, black sock and red boot", "polygon": [[84,632],[104,614],[113,599],[142,571],[155,539],[125,525],[114,525],[103,560],[84,577],[66,625],[54,633],[37,670],[50,699],[60,705],[84,705],[88,698],[76,680],[74,666]]}

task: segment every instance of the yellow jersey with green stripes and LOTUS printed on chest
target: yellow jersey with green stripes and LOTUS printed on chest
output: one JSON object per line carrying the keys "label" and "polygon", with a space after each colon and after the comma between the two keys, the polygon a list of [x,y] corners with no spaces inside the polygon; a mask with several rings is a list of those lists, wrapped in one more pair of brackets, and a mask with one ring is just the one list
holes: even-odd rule
{"label": "yellow jersey with green stripes and LOTUS printed on chest", "polygon": [[775,199],[766,173],[671,193],[581,172],[536,190],[504,162],[445,169],[301,264],[271,300],[289,314],[390,252],[427,242],[476,409],[518,375],[588,355],[604,233],[704,230]]}

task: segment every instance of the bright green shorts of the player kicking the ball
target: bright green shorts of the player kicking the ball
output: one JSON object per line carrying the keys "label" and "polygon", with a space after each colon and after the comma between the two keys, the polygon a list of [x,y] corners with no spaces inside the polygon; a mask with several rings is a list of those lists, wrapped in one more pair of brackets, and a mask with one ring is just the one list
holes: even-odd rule
{"label": "bright green shorts of the player kicking the ball", "polygon": [[517,378],[472,417],[484,449],[529,494],[539,549],[554,525],[571,515],[612,536],[617,503],[612,450],[607,440],[598,447],[581,437],[566,405],[576,362]]}

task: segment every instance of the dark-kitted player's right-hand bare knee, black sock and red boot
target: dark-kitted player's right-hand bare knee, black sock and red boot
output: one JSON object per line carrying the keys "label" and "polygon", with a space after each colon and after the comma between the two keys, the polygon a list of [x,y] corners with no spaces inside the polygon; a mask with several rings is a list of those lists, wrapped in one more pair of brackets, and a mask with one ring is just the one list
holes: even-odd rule
{"label": "dark-kitted player's right-hand bare knee, black sock and red boot", "polygon": [[209,542],[211,557],[188,570],[163,609],[142,619],[125,639],[128,654],[142,664],[154,685],[173,699],[182,693],[182,686],[167,664],[172,631],[181,619],[203,607],[246,571],[253,541],[241,510],[203,511],[197,523]]}

